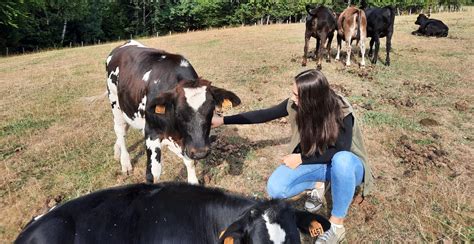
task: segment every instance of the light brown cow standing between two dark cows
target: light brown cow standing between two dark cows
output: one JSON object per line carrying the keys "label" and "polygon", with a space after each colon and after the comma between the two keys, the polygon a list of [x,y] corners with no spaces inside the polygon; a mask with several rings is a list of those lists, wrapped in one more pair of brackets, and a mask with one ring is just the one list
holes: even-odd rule
{"label": "light brown cow standing between two dark cows", "polygon": [[362,56],[361,66],[365,66],[365,38],[367,37],[367,19],[363,10],[356,7],[347,7],[337,19],[337,54],[339,60],[342,40],[347,45],[346,65],[351,65],[351,44],[355,39],[360,46]]}

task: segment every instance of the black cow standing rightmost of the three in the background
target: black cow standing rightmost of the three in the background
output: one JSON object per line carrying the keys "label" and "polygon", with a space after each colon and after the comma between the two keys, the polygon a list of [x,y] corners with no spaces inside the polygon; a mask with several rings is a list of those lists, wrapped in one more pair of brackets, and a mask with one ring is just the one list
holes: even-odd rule
{"label": "black cow standing rightmost of the three in the background", "polygon": [[[364,9],[367,16],[367,37],[370,37],[369,57],[372,56],[372,63],[376,64],[379,54],[380,38],[386,37],[385,49],[387,57],[385,65],[390,65],[390,50],[392,49],[393,25],[395,24],[395,9],[392,6],[383,8]],[[375,44],[375,52],[372,48]]]}

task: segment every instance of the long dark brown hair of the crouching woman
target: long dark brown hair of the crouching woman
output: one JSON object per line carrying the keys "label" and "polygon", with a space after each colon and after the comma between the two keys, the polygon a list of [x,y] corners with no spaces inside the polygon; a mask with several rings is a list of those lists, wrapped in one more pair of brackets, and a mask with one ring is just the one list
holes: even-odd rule
{"label": "long dark brown hair of the crouching woman", "polygon": [[305,156],[322,154],[334,145],[342,126],[339,98],[329,87],[326,77],[310,69],[295,77],[298,89],[296,123],[300,132],[301,152]]}

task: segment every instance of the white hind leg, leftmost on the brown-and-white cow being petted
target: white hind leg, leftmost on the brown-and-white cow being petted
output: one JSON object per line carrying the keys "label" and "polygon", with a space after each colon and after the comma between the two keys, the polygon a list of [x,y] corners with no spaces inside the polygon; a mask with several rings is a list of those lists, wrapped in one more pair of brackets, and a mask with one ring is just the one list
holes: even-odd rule
{"label": "white hind leg, leftmost on the brown-and-white cow being petted", "polygon": [[122,111],[115,106],[112,109],[114,114],[114,131],[117,136],[117,141],[114,145],[114,156],[119,157],[120,155],[120,164],[122,165],[122,173],[130,173],[132,171],[132,164],[130,163],[130,155],[127,151],[127,144],[125,142],[125,135],[129,125],[125,122],[123,118]]}

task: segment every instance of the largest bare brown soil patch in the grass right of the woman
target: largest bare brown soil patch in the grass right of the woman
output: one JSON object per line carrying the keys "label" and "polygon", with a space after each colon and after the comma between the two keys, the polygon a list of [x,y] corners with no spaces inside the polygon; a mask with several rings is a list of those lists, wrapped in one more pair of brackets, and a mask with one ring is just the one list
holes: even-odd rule
{"label": "largest bare brown soil patch in the grass right of the woman", "polygon": [[414,176],[416,170],[433,167],[450,168],[452,163],[448,157],[449,153],[441,145],[434,143],[419,145],[406,135],[398,139],[393,154],[401,159],[401,164],[406,168],[404,175],[407,177]]}

